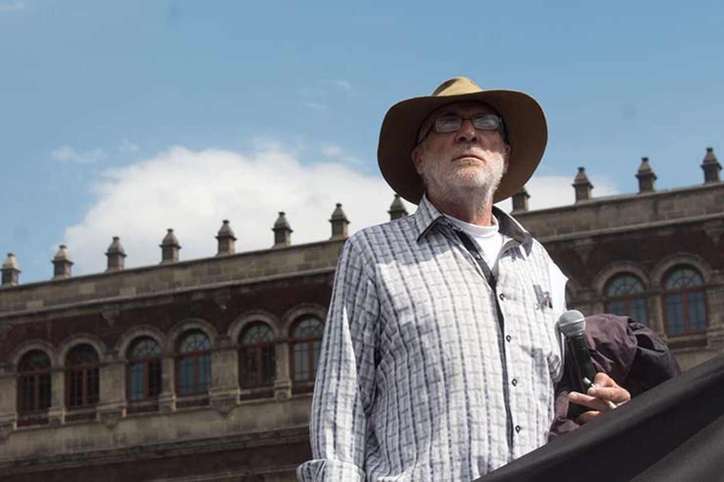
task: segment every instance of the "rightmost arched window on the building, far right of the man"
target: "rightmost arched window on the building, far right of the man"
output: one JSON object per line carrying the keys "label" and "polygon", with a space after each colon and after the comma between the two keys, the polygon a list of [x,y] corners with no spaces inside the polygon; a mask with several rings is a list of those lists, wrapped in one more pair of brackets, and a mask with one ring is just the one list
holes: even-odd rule
{"label": "rightmost arched window on the building, far right of the man", "polygon": [[676,266],[664,276],[663,291],[664,317],[670,336],[707,328],[704,280],[698,272],[689,266]]}

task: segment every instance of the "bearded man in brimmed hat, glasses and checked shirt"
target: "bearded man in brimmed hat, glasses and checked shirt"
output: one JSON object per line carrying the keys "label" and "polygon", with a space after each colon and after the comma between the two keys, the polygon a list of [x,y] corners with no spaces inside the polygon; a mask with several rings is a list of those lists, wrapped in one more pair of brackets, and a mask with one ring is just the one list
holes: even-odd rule
{"label": "bearded man in brimmed hat, glasses and checked shirt", "polygon": [[[563,373],[555,328],[566,278],[493,206],[543,155],[542,109],[525,93],[458,77],[387,112],[378,159],[412,216],[345,245],[300,481],[469,481],[540,447]],[[596,395],[571,400],[607,410]]]}

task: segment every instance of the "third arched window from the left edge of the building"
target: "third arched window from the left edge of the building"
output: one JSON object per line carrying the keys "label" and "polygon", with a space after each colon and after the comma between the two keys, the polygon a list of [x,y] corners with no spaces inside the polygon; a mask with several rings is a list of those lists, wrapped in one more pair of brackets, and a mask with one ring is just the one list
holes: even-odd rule
{"label": "third arched window from the left edge of the building", "polygon": [[131,402],[155,399],[161,393],[161,347],[151,337],[140,337],[130,345],[128,360],[128,399]]}

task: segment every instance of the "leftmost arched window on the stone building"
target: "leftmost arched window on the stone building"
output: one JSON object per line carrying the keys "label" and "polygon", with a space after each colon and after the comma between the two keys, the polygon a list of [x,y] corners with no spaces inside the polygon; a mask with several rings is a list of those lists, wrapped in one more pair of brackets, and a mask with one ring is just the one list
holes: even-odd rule
{"label": "leftmost arched window on the stone building", "polygon": [[50,358],[45,352],[33,350],[20,359],[17,365],[17,398],[20,413],[33,413],[50,407]]}

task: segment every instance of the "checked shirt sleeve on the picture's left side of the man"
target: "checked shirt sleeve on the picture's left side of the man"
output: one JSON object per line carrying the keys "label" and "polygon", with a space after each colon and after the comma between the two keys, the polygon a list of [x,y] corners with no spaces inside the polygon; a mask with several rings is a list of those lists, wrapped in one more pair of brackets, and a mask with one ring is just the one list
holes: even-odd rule
{"label": "checked shirt sleeve on the picture's left side of the man", "polygon": [[379,300],[354,240],[337,263],[309,422],[313,460],[297,469],[300,482],[365,479]]}

